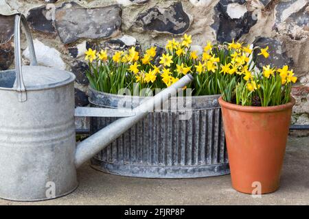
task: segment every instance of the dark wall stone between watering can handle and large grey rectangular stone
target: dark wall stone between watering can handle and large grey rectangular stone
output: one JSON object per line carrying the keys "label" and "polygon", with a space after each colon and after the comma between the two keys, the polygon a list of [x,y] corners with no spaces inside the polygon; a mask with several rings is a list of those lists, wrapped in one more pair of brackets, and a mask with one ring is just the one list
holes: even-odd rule
{"label": "dark wall stone between watering can handle and large grey rectangular stone", "polygon": [[49,15],[50,13],[51,12],[47,10],[45,5],[38,8],[32,8],[27,16],[27,22],[35,31],[41,31],[47,34],[56,34],[52,16]]}

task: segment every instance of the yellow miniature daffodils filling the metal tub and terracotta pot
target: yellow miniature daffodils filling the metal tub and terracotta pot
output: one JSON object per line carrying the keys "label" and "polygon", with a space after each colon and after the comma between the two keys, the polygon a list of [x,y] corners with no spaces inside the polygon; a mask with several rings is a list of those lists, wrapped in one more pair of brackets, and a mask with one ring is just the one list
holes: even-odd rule
{"label": "yellow miniature daffodils filling the metal tub and terracotta pot", "polygon": [[[203,49],[191,47],[192,36],[168,40],[165,51],[150,47],[141,53],[89,49],[87,77],[95,90],[117,94],[122,88],[134,93],[137,88],[166,88],[181,77],[191,74],[194,95],[222,94],[225,101],[240,105],[280,105],[290,101],[292,83],[297,81],[288,66],[258,66],[260,57],[267,59],[271,49],[243,42],[213,44]],[[256,55],[255,55],[256,54]],[[185,88],[183,88],[185,89]]]}

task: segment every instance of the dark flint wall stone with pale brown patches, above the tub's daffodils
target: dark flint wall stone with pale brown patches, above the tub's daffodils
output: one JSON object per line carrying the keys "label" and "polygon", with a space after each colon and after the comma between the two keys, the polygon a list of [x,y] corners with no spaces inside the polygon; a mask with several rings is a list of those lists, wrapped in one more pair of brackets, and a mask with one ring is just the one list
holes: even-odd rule
{"label": "dark flint wall stone with pale brown patches, above the tub's daffodils", "polygon": [[183,11],[182,3],[176,2],[168,8],[155,6],[139,14],[135,25],[144,31],[183,34],[190,27],[190,18]]}

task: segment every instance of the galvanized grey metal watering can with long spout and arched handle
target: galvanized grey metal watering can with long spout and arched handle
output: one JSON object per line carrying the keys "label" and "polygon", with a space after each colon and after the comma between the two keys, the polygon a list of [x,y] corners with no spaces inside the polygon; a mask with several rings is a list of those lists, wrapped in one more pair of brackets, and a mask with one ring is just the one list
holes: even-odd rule
{"label": "galvanized grey metal watering can with long spout and arched handle", "polygon": [[[21,66],[20,25],[31,65]],[[0,198],[39,201],[78,186],[76,168],[192,81],[186,75],[133,110],[78,107],[72,73],[37,66],[29,27],[16,15],[15,68],[0,72]],[[123,117],[76,146],[74,116]]]}

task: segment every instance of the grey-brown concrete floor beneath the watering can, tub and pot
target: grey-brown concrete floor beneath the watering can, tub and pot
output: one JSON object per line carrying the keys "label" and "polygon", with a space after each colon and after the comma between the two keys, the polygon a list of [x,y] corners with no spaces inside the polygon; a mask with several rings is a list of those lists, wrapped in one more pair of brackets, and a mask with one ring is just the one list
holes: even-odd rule
{"label": "grey-brown concrete floor beneath the watering can, tub and pot", "polygon": [[76,191],[50,201],[0,205],[309,205],[309,137],[289,137],[277,192],[252,198],[231,188],[230,176],[139,179],[108,175],[84,164]]}

